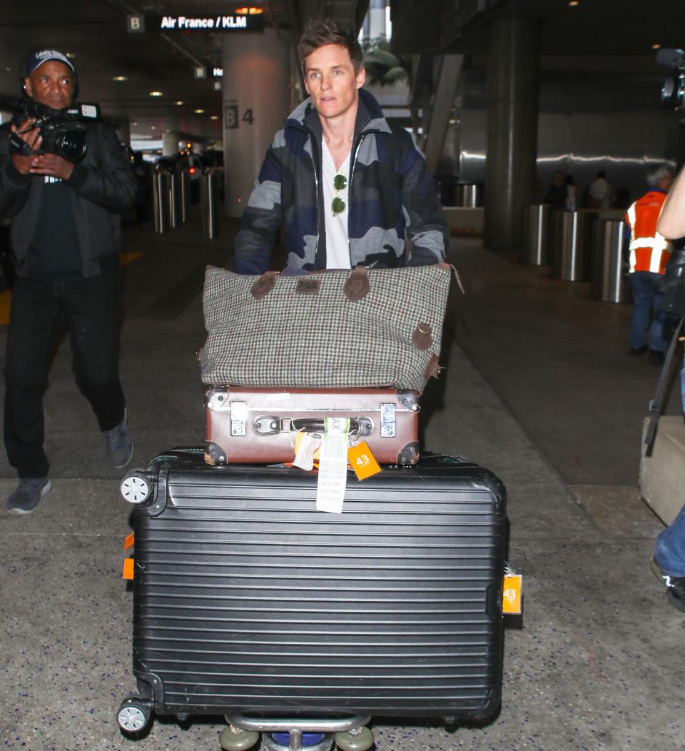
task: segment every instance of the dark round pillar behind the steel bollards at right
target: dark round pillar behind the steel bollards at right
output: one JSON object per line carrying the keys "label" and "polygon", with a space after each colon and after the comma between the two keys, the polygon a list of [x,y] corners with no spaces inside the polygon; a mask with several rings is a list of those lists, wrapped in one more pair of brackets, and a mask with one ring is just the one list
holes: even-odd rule
{"label": "dark round pillar behind the steel bollards at right", "polygon": [[484,243],[521,253],[536,177],[539,20],[510,17],[488,26],[487,75]]}

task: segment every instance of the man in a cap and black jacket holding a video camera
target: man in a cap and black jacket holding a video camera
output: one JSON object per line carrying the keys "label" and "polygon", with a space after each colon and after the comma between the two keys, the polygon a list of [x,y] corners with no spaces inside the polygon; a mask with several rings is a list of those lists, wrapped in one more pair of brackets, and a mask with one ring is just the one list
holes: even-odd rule
{"label": "man in a cap and black jacket holding a video camera", "polygon": [[[76,70],[65,54],[35,50],[22,72],[33,101],[62,110],[74,100]],[[11,152],[11,134],[33,153]],[[0,218],[12,219],[17,263],[5,358],[5,448],[19,486],[7,508],[19,514],[50,490],[43,392],[59,315],[71,335],[77,384],[98,418],[111,463],[123,467],[133,454],[118,374],[118,268],[119,211],[133,203],[136,182],[113,128],[88,123],[85,137],[86,155],[74,162],[41,152],[44,134],[34,118],[0,128]]]}

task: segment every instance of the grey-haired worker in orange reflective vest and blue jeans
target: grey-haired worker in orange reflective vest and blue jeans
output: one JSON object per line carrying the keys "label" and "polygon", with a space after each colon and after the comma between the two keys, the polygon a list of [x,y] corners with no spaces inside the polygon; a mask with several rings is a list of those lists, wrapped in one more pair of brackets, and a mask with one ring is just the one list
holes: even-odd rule
{"label": "grey-haired worker in orange reflective vest and blue jeans", "polygon": [[666,349],[665,315],[659,308],[661,295],[655,287],[671,255],[671,243],[656,231],[656,222],[672,182],[673,170],[668,164],[653,167],[647,174],[650,189],[631,204],[626,212],[626,222],[630,228],[632,289],[630,354],[642,354],[648,347],[649,361],[655,365],[663,363]]}

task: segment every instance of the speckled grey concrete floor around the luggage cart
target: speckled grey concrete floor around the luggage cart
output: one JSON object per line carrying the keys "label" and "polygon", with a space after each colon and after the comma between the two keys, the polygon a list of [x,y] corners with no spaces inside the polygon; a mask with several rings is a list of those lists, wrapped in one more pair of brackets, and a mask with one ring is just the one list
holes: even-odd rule
{"label": "speckled grey concrete floor around the luggage cart", "polygon": [[[225,223],[224,223],[225,224]],[[232,254],[233,225],[199,240],[125,232],[122,382],[132,466],[203,442],[203,267]],[[506,619],[503,701],[479,727],[374,722],[379,751],[683,749],[685,617],[649,569],[661,523],[637,486],[641,425],[659,369],[628,357],[628,306],[590,300],[455,238],[440,381],[427,388],[425,447],[488,466],[509,491],[509,560],[524,614]],[[0,351],[5,330],[0,328]],[[675,390],[674,390],[675,391]],[[671,394],[668,410],[677,412]],[[131,591],[120,578],[130,507],[119,470],[59,341],[45,398],[53,490],[28,517],[0,511],[0,744],[17,749],[218,749],[221,717],[157,719],[137,743],[116,725],[134,690]],[[14,487],[0,458],[0,493]]]}

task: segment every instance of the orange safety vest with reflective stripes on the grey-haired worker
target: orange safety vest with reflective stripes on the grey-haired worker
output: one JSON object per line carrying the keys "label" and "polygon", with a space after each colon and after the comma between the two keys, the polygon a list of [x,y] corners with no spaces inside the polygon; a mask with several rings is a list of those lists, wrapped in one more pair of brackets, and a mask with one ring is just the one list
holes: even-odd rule
{"label": "orange safety vest with reflective stripes on the grey-haired worker", "polygon": [[672,246],[656,231],[656,222],[666,194],[650,190],[631,204],[626,212],[630,227],[630,273],[653,271],[662,274]]}

